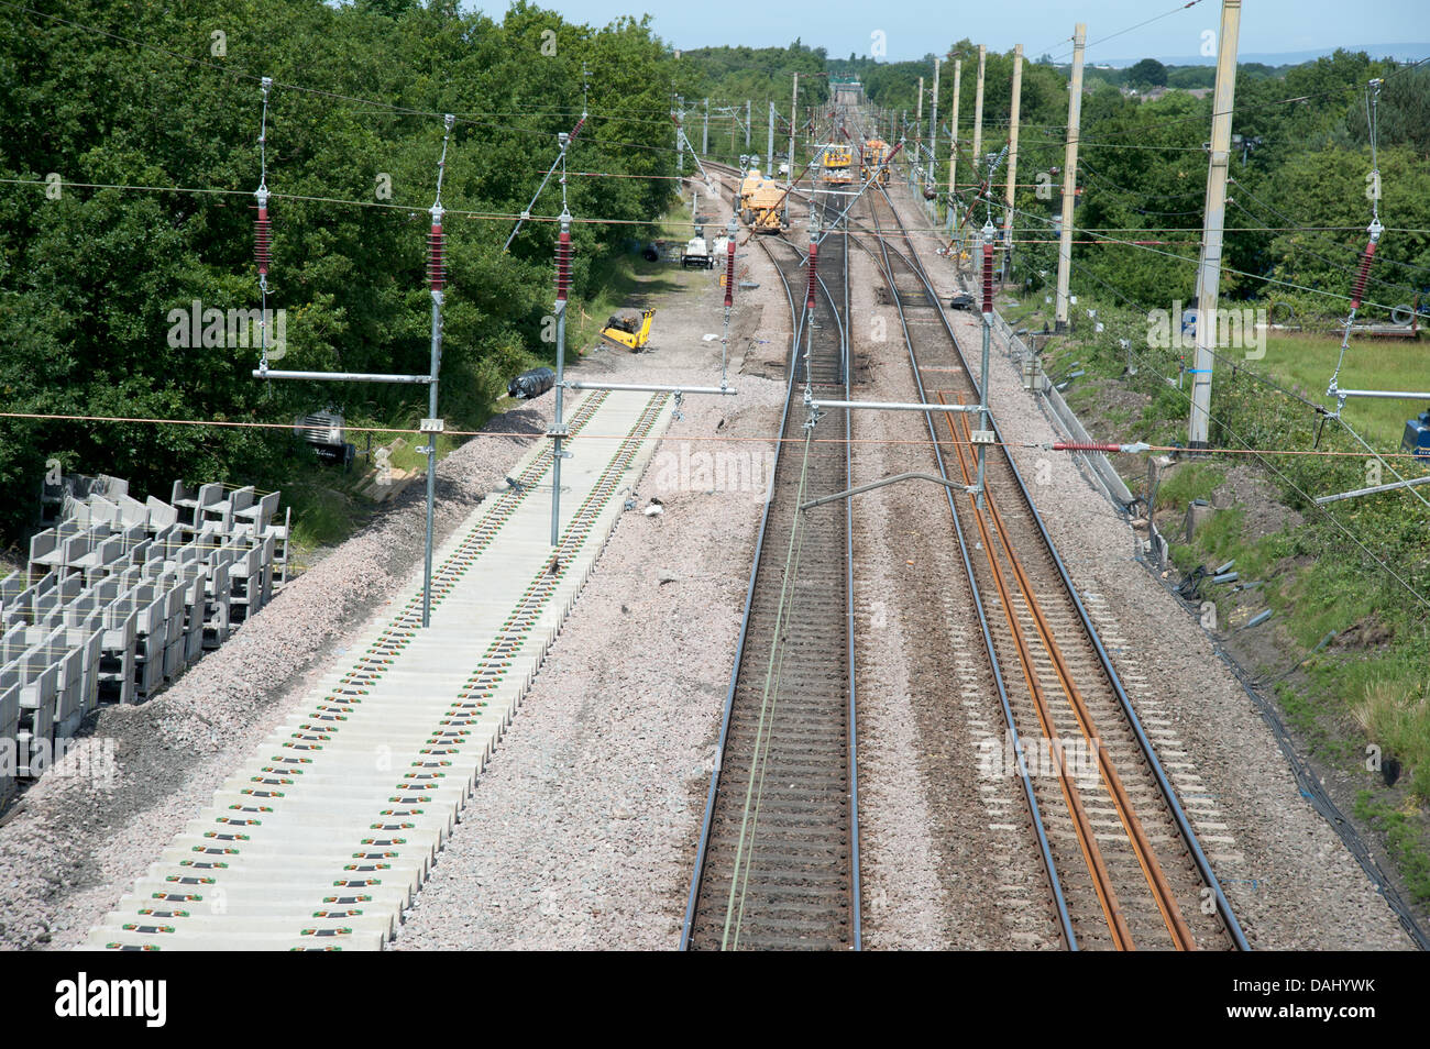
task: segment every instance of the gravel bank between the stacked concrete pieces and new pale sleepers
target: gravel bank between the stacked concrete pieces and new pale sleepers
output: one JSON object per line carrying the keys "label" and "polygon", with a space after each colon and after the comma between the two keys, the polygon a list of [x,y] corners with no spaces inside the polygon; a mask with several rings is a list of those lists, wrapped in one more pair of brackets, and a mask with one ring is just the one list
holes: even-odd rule
{"label": "gravel bank between the stacked concrete pieces and new pale sleepers", "polygon": [[[541,433],[549,402],[508,412],[488,432]],[[438,542],[529,446],[478,437],[439,463]],[[419,570],[425,516],[422,486],[412,484],[173,686],[139,706],[100,712],[89,746],[112,753],[113,763],[72,753],[0,827],[0,946],[84,939],[270,725],[302,702],[356,627],[386,615],[386,602]],[[80,770],[90,775],[72,775]]]}

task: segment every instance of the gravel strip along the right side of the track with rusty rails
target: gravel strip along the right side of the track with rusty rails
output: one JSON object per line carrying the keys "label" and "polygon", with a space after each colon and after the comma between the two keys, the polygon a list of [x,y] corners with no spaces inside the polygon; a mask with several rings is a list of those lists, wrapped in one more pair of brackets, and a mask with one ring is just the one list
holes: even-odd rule
{"label": "gravel strip along the right side of the track with rusty rails", "polygon": [[[894,199],[909,227],[927,227],[902,189]],[[914,239],[925,260],[937,260],[928,263],[930,276],[947,302],[955,290],[951,267],[934,254],[932,237]],[[977,354],[968,350],[978,346],[981,319],[951,316],[977,374]],[[1061,439],[997,343],[990,370],[990,403],[1005,440]],[[1134,707],[1144,720],[1170,722],[1185,760],[1203,777],[1198,793],[1216,817],[1203,816],[1197,830],[1251,946],[1410,949],[1360,865],[1301,797],[1266,722],[1198,623],[1137,563],[1137,537],[1127,522],[1070,456],[1027,447],[1014,447],[1012,456]],[[1208,810],[1190,800],[1183,797],[1194,819]]]}

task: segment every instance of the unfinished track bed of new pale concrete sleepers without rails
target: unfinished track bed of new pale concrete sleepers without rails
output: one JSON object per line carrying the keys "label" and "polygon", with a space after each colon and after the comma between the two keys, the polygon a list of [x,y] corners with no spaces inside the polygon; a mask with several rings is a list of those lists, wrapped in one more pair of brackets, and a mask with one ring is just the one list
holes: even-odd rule
{"label": "unfinished track bed of new pale concrete sleepers without rails", "polygon": [[553,462],[549,446],[536,447],[438,552],[430,627],[420,627],[418,577],[163,849],[89,946],[385,946],[621,514],[622,484],[649,460],[668,402],[579,399],[573,436],[611,427],[625,437],[613,452],[578,443],[558,547],[533,539],[548,520],[538,487]]}

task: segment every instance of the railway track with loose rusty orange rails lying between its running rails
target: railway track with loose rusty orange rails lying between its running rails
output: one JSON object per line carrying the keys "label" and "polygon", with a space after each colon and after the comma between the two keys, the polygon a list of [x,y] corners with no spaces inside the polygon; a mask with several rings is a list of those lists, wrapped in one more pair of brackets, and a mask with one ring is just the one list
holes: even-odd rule
{"label": "railway track with loose rusty orange rails lying between its running rails", "polygon": [[[978,403],[978,386],[884,192],[868,194],[874,257],[922,403]],[[905,244],[891,247],[889,230]],[[930,309],[931,307],[931,309]],[[930,413],[941,476],[977,479],[967,413]],[[990,420],[997,433],[997,424]],[[1001,442],[1001,434],[997,436]],[[1246,939],[1005,449],[987,450],[987,502],[948,492],[1064,945],[1240,948]]]}

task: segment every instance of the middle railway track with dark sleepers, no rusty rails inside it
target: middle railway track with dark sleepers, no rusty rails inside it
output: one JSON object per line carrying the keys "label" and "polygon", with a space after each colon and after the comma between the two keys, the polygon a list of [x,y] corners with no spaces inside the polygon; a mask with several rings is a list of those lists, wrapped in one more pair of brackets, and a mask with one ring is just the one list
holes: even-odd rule
{"label": "middle railway track with dark sleepers, no rusty rails inside it", "polygon": [[[848,390],[842,240],[821,252],[808,322],[802,252],[758,242],[791,309],[784,440],[756,539],[682,949],[859,948],[849,514],[798,512],[811,496],[842,490],[849,476],[849,446],[812,443],[801,410],[807,384],[817,397]],[[848,437],[847,413],[834,414],[828,426]]]}

